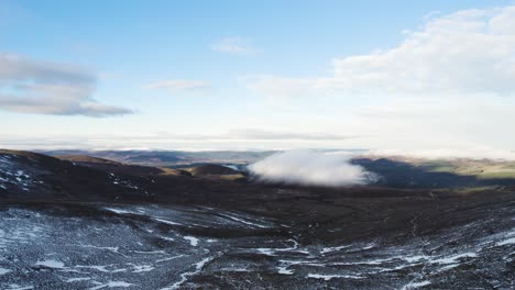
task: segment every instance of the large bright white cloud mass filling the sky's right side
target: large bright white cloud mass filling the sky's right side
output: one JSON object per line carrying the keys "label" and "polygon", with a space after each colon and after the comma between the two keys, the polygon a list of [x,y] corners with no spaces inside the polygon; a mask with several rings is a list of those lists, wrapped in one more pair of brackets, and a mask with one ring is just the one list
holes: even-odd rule
{"label": "large bright white cloud mass filling the sky's right side", "polygon": [[404,35],[390,49],[335,58],[330,76],[245,82],[272,105],[324,115],[332,132],[364,136],[347,146],[515,148],[507,132],[515,127],[515,7],[428,15]]}

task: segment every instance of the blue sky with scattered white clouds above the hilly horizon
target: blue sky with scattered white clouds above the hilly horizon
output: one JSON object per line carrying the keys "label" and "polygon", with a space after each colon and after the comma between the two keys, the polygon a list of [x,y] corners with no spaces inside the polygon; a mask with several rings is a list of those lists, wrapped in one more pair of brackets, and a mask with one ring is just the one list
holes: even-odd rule
{"label": "blue sky with scattered white clouds above the hilly horizon", "polygon": [[0,147],[502,155],[514,112],[515,1],[0,0]]}

